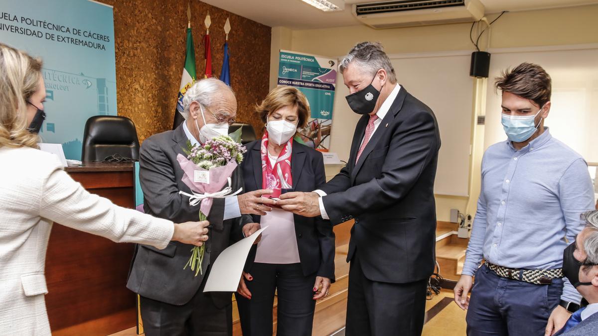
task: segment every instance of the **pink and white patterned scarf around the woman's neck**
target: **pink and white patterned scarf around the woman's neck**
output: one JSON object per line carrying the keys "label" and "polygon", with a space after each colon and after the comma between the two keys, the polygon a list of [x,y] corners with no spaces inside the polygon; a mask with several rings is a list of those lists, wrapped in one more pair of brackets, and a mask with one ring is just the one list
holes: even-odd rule
{"label": "pink and white patterned scarf around the woman's neck", "polygon": [[280,197],[281,189],[291,189],[293,179],[291,175],[291,154],[293,139],[285,144],[274,166],[268,159],[268,131],[264,132],[261,143],[262,158],[262,189],[271,189],[273,193],[264,197]]}

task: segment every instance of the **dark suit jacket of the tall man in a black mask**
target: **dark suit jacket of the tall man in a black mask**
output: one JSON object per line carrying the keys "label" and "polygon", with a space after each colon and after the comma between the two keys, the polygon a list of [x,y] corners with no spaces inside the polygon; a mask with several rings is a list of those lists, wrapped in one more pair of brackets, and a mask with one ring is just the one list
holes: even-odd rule
{"label": "dark suit jacket of the tall man in a black mask", "polygon": [[347,166],[321,187],[324,209],[334,225],[355,219],[347,261],[358,251],[368,279],[426,279],[435,262],[436,118],[401,87],[355,164],[369,118],[355,127]]}

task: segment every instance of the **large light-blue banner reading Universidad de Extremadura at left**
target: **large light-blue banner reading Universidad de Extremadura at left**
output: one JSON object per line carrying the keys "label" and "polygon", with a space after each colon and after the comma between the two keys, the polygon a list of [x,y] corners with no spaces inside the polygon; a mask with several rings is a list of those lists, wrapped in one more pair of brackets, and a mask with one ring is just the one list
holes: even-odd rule
{"label": "large light-blue banner reading Universidad de Extremadura at left", "polygon": [[80,160],[87,119],[117,114],[112,7],[88,0],[4,1],[0,41],[44,61],[47,117],[39,135],[62,143],[66,158]]}

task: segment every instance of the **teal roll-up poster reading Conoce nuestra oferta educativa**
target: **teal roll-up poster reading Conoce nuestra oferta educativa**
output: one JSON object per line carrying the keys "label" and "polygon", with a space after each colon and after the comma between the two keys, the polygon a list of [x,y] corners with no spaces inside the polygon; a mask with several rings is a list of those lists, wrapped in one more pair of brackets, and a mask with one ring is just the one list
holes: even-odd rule
{"label": "teal roll-up poster reading Conoce nuestra oferta educativa", "polygon": [[297,87],[306,95],[312,115],[299,133],[306,145],[322,151],[330,147],[336,68],[336,59],[280,50],[278,85]]}

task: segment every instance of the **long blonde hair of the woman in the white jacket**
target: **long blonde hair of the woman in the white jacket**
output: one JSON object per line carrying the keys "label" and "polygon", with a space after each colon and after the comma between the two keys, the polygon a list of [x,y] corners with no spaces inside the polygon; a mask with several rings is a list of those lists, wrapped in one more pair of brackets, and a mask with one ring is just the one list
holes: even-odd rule
{"label": "long blonde hair of the woman in the white jacket", "polygon": [[27,100],[37,91],[42,62],[0,43],[0,148],[38,148],[27,130]]}

